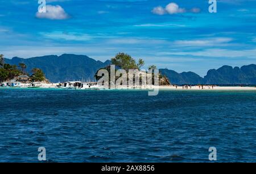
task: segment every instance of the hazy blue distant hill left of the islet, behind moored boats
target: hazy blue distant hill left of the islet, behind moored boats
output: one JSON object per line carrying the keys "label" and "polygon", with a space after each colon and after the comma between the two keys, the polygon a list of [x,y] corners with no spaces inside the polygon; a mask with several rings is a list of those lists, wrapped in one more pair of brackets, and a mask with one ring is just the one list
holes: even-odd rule
{"label": "hazy blue distant hill left of the islet, behind moored boats", "polygon": [[49,55],[42,57],[32,57],[22,59],[13,57],[5,59],[5,63],[18,65],[24,63],[27,65],[27,72],[31,73],[32,68],[40,68],[46,74],[46,78],[51,82],[63,82],[71,80],[81,80],[84,78],[94,79],[94,73],[110,64],[110,60],[102,63],[84,55],[64,54],[61,56]]}

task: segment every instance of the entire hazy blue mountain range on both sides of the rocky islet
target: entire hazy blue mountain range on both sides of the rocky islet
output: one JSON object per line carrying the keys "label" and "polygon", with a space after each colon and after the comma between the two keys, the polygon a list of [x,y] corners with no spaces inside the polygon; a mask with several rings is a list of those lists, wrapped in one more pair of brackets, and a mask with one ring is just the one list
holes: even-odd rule
{"label": "entire hazy blue mountain range on both sides of the rocky islet", "polygon": [[[40,68],[51,82],[63,82],[82,78],[92,80],[96,71],[110,65],[111,61],[102,62],[85,55],[64,54],[29,59],[13,57],[13,59],[5,59],[5,63],[13,65],[24,63],[27,65],[28,73],[31,73],[32,68]],[[170,69],[159,69],[159,71],[166,75],[172,84],[256,84],[255,64],[241,68],[225,65],[218,69],[210,69],[204,78],[193,72],[177,73]]]}

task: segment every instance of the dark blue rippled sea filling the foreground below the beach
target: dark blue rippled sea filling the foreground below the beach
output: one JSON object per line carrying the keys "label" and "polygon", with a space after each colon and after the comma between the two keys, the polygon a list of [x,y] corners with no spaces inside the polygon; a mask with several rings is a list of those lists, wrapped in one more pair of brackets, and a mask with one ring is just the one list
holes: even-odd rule
{"label": "dark blue rippled sea filling the foreground below the beach", "polygon": [[0,89],[0,162],[256,162],[256,92]]}

